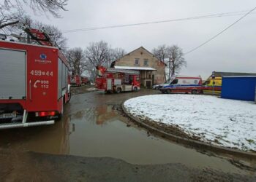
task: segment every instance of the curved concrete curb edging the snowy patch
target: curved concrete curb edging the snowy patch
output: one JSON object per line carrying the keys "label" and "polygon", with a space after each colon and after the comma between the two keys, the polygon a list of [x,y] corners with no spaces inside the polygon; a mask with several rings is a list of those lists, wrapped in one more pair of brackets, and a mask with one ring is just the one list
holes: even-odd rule
{"label": "curved concrete curb edging the snowy patch", "polygon": [[[127,101],[127,100],[125,100],[125,101]],[[256,154],[253,154],[253,153],[249,153],[246,151],[239,151],[236,149],[229,149],[229,148],[222,147],[222,146],[215,146],[210,143],[203,143],[201,141],[195,141],[195,140],[188,139],[188,138],[182,138],[182,137],[170,134],[168,132],[159,130],[156,127],[152,127],[152,126],[146,124],[145,122],[141,122],[140,119],[138,119],[137,117],[129,114],[128,111],[126,110],[126,108],[124,107],[125,101],[123,103],[121,103],[121,109],[122,109],[122,111],[124,111],[124,114],[127,115],[134,122],[139,124],[141,127],[146,128],[148,131],[153,132],[156,135],[159,135],[163,138],[167,138],[170,141],[174,141],[176,143],[181,143],[186,146],[195,147],[196,149],[200,149],[200,150],[213,151],[214,153],[220,153],[220,154],[231,154],[233,156],[243,157],[246,159],[256,159]]]}

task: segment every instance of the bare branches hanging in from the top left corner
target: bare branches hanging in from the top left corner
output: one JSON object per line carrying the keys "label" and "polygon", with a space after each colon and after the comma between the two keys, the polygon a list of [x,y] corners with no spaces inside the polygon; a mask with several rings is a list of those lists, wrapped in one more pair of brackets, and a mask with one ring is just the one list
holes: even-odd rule
{"label": "bare branches hanging in from the top left corner", "polygon": [[60,17],[59,10],[66,11],[68,0],[4,0],[1,5],[10,8],[16,7],[17,11],[23,10],[23,4],[29,5],[34,12],[50,12],[54,17]]}

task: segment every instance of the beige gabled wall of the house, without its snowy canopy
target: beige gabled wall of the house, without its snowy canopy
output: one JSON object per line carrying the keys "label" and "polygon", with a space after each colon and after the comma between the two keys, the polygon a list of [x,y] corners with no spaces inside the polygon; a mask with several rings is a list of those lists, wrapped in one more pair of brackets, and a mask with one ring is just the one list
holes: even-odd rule
{"label": "beige gabled wall of the house, without its snowy canopy", "polygon": [[[138,59],[138,64],[135,64],[136,59]],[[148,65],[144,64],[145,60],[148,60]],[[165,64],[155,58],[151,52],[148,52],[148,50],[143,47],[140,47],[137,50],[124,55],[123,58],[116,60],[115,65],[144,68],[150,67],[156,69],[157,71],[140,71],[141,84],[144,86],[146,86],[146,81],[151,81],[151,84],[162,84],[165,82]]]}

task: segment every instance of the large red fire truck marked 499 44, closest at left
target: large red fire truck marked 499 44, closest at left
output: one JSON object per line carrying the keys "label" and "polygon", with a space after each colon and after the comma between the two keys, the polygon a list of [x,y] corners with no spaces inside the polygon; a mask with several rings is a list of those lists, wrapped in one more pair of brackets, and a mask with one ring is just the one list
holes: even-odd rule
{"label": "large red fire truck marked 499 44, closest at left", "polygon": [[53,124],[71,96],[67,59],[43,31],[25,31],[39,45],[0,41],[0,129]]}

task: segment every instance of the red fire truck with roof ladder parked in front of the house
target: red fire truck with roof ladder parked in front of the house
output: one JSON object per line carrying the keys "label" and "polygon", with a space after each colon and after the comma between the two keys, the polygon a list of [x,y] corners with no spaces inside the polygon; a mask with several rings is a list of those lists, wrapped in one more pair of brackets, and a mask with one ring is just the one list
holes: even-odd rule
{"label": "red fire truck with roof ladder parked in front of the house", "polygon": [[126,92],[140,90],[140,72],[97,66],[95,86],[105,92]]}

